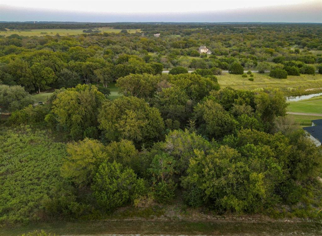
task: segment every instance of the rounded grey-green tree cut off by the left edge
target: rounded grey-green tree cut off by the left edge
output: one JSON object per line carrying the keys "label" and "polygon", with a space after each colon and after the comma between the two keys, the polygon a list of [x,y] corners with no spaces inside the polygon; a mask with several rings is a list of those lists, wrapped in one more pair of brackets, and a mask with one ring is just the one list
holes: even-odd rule
{"label": "rounded grey-green tree cut off by the left edge", "polygon": [[34,100],[21,86],[8,86],[0,84],[0,109],[1,112],[13,112],[23,109]]}

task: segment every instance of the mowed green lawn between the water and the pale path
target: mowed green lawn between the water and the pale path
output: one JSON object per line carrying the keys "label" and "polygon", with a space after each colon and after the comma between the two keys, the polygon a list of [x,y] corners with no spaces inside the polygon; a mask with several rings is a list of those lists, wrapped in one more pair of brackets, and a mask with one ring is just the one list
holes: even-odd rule
{"label": "mowed green lawn between the water and the pale path", "polygon": [[322,96],[303,101],[291,101],[288,103],[288,111],[291,112],[322,114]]}

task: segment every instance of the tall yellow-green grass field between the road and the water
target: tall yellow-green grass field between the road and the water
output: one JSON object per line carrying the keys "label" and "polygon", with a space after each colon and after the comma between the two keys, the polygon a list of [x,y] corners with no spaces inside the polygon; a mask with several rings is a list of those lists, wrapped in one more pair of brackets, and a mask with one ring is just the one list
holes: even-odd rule
{"label": "tall yellow-green grass field between the road and the water", "polygon": [[248,78],[242,78],[240,74],[223,73],[217,75],[220,86],[230,86],[234,89],[258,89],[258,88],[278,88],[285,93],[285,95],[292,95],[292,90],[304,90],[310,88],[322,87],[322,74],[309,75],[301,74],[300,76],[288,76],[287,79],[271,78],[268,73],[254,74],[254,81],[249,81]]}

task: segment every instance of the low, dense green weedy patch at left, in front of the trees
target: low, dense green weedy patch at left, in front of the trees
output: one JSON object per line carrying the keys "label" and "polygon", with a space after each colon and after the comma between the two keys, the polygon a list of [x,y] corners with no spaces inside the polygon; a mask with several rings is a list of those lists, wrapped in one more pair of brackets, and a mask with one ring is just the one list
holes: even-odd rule
{"label": "low, dense green weedy patch at left, in front of the trees", "polygon": [[44,220],[41,201],[61,181],[65,144],[30,127],[0,129],[0,222]]}

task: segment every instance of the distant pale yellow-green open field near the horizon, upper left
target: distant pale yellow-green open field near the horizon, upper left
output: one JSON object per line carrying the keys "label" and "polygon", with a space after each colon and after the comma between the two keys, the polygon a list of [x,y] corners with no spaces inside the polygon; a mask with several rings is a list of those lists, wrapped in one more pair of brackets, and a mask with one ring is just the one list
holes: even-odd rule
{"label": "distant pale yellow-green open field near the horizon, upper left", "polygon": [[[8,29],[7,29],[8,30]],[[110,29],[108,27],[98,28],[98,30],[106,33],[119,33],[121,30],[119,29]],[[140,29],[132,29],[127,30],[128,33],[136,33],[140,32]],[[82,34],[83,29],[43,29],[43,30],[30,30],[30,31],[23,31],[23,30],[14,30],[14,31],[0,31],[0,35],[9,36],[12,34],[18,34],[21,36],[44,36],[44,35],[75,35],[75,34]]]}

